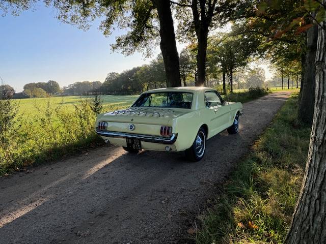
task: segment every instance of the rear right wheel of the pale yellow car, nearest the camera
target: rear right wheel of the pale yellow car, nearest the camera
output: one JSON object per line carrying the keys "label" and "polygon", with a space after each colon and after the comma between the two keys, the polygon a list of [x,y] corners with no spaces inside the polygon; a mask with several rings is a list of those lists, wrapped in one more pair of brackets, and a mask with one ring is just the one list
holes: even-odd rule
{"label": "rear right wheel of the pale yellow car, nearest the camera", "polygon": [[200,161],[205,154],[206,149],[206,132],[200,128],[193,145],[185,150],[185,156],[188,160],[197,162]]}

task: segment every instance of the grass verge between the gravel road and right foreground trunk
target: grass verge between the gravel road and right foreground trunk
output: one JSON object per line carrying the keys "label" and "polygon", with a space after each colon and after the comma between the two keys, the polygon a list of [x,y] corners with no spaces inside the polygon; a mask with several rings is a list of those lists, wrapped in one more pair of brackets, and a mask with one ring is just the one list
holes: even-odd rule
{"label": "grass verge between the gravel road and right foreground trunk", "polygon": [[196,243],[282,243],[300,194],[311,126],[297,121],[297,94],[278,112],[198,218]]}

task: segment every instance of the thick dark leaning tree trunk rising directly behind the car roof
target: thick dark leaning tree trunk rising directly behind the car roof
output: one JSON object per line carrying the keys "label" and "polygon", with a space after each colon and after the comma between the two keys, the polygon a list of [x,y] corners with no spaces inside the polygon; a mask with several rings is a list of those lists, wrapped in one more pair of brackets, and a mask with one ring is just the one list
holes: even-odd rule
{"label": "thick dark leaning tree trunk rising directly behind the car roof", "polygon": [[179,54],[175,41],[169,1],[153,0],[159,18],[160,48],[164,60],[168,86],[181,86]]}

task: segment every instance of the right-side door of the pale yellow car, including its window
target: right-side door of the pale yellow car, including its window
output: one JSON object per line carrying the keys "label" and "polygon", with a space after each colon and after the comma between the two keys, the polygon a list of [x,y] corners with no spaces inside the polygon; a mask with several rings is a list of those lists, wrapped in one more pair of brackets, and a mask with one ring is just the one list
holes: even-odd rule
{"label": "right-side door of the pale yellow car, including its window", "polygon": [[209,109],[209,124],[213,136],[228,127],[231,108],[223,103],[221,96],[214,90],[205,92],[205,100],[206,108]]}

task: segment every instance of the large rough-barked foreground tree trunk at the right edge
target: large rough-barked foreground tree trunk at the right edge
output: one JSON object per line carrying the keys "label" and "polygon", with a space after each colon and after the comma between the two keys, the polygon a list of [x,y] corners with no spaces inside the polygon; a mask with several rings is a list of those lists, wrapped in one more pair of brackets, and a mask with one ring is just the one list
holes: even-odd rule
{"label": "large rough-barked foreground tree trunk at the right edge", "polygon": [[[325,1],[324,1],[325,3]],[[325,23],[321,23],[325,26]],[[319,27],[316,96],[301,194],[285,244],[326,243],[326,32]],[[312,66],[310,66],[312,67]]]}

